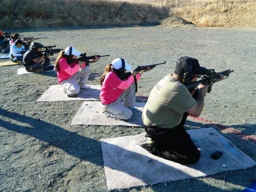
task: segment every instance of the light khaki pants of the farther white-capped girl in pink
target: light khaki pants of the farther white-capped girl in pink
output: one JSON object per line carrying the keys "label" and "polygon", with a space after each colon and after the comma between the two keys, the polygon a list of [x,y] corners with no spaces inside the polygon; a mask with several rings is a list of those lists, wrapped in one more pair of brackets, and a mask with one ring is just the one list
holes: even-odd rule
{"label": "light khaki pants of the farther white-capped girl in pink", "polygon": [[80,68],[78,72],[76,72],[70,78],[61,82],[64,93],[77,95],[80,92],[80,86],[86,84],[88,81],[89,75],[91,73],[91,66],[86,66],[84,68]]}

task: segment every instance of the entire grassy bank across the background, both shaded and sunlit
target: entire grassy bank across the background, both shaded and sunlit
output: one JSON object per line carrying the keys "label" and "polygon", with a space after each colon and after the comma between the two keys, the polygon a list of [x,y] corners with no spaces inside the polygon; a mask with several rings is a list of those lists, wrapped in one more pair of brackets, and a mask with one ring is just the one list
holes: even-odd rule
{"label": "entire grassy bank across the background, both shaded and sunlit", "polygon": [[256,28],[256,0],[127,1],[1,0],[0,28],[137,25],[161,20],[164,25],[192,22]]}

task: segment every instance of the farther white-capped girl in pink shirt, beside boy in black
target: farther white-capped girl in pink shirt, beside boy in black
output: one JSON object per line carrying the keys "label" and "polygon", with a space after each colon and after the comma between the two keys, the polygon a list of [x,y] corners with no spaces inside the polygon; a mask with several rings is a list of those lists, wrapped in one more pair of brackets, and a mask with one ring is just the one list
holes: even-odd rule
{"label": "farther white-capped girl in pink shirt, beside boy in black", "polygon": [[[58,82],[62,85],[64,93],[68,96],[75,97],[79,94],[80,89],[89,89],[90,87],[85,85],[88,81],[91,67],[85,62],[73,62],[68,63],[69,59],[76,59],[82,53],[76,51],[74,47],[68,47],[65,51],[62,51],[55,61],[55,69],[57,72]],[[95,60],[89,60],[89,62],[96,62]]]}

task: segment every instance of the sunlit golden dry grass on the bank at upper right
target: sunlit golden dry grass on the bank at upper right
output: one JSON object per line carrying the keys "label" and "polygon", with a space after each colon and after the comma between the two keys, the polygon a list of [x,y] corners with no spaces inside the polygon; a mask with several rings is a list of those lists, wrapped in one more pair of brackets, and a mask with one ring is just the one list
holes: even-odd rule
{"label": "sunlit golden dry grass on the bank at upper right", "polygon": [[155,0],[153,4],[199,26],[256,28],[256,0]]}

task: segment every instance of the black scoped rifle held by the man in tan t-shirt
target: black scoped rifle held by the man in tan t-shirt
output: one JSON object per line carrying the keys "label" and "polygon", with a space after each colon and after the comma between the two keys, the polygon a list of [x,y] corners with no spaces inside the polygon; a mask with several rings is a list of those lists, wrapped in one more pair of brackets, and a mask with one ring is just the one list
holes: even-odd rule
{"label": "black scoped rifle held by the man in tan t-shirt", "polygon": [[[211,92],[211,86],[215,83],[215,79],[219,78],[219,75],[222,74],[223,76],[226,76],[226,78],[229,77],[230,73],[234,72],[234,70],[225,70],[223,72],[215,72],[214,69],[209,69],[209,72],[204,75],[201,80],[193,82],[191,84],[185,84],[189,91],[192,91],[197,87],[199,84],[207,84],[209,85],[207,93]],[[226,79],[224,78],[224,79]]]}

